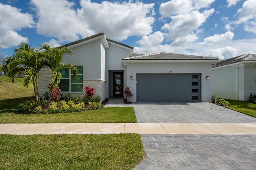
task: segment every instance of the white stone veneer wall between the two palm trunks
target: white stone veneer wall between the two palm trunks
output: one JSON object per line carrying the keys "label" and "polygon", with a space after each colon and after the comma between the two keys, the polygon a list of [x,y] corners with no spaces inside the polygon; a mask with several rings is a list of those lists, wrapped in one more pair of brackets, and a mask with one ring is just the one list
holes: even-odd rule
{"label": "white stone veneer wall between the two palm trunks", "polygon": [[39,72],[40,77],[38,78],[38,92],[39,96],[42,96],[44,92],[48,92],[49,83],[52,80],[52,70],[48,67],[43,68]]}

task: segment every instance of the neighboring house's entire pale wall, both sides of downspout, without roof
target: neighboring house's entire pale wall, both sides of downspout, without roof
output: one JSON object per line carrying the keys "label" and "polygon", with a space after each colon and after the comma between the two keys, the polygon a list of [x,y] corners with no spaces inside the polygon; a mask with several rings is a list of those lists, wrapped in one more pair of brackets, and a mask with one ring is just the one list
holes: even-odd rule
{"label": "neighboring house's entire pale wall, both sides of downspout, without roof", "polygon": [[212,77],[212,92],[219,98],[247,101],[251,92],[256,93],[254,64],[214,68]]}

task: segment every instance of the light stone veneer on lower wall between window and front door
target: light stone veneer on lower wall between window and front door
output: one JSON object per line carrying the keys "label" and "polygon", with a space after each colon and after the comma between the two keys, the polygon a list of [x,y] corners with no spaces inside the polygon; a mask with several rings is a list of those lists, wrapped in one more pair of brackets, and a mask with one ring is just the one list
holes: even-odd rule
{"label": "light stone veneer on lower wall between window and front door", "polygon": [[100,95],[101,102],[103,102],[106,99],[106,81],[104,80],[84,80],[84,86],[90,86],[95,89],[94,96]]}

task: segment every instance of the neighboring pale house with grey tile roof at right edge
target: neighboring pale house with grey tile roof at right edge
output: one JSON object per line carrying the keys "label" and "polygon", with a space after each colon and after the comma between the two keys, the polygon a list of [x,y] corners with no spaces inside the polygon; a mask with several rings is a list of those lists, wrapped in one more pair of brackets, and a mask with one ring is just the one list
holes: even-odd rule
{"label": "neighboring pale house with grey tile roof at right edge", "polygon": [[256,54],[226,59],[212,67],[212,93],[219,98],[248,100],[256,93]]}

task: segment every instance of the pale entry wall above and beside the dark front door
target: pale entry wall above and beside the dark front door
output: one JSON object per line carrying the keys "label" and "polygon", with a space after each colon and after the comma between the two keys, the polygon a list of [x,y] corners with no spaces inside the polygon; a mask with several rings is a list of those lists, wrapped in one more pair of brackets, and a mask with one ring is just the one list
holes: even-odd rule
{"label": "pale entry wall above and beside the dark front door", "polygon": [[121,65],[121,60],[124,57],[130,57],[130,51],[128,49],[119,47],[118,45],[114,45],[109,43],[109,48],[106,49],[106,68],[105,68],[105,78],[108,81],[106,84],[106,97],[113,96],[112,85],[113,82],[109,77],[109,71],[124,71],[124,87],[127,87],[126,83],[126,67]]}

